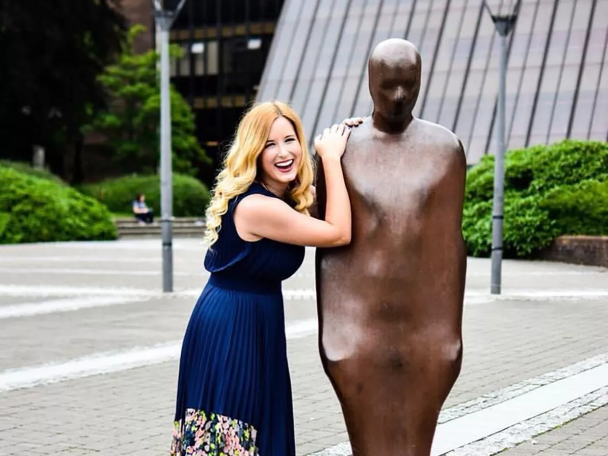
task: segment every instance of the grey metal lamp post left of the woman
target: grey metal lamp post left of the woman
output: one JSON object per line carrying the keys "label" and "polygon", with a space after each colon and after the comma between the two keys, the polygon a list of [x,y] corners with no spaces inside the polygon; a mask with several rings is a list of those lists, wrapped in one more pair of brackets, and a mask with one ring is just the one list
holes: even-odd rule
{"label": "grey metal lamp post left of the woman", "polygon": [[[161,229],[162,229],[162,291],[173,291],[173,179],[171,171],[171,99],[169,92],[169,30],[184,6],[180,0],[153,0],[154,22],[161,41]],[[177,2],[173,2],[175,4]]]}

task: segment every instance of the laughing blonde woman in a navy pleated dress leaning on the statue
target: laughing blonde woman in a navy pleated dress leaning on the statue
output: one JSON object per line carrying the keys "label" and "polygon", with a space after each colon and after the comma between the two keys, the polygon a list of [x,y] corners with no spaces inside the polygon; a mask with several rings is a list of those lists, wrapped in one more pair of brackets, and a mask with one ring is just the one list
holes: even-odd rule
{"label": "laughing blonde woman in a navy pleated dress leaning on the statue", "polygon": [[241,120],[207,209],[211,275],[182,344],[171,455],[295,455],[281,282],[304,246],[350,242],[349,134],[334,125],[315,139],[323,221],[308,214],[314,171],[297,114],[268,102]]}

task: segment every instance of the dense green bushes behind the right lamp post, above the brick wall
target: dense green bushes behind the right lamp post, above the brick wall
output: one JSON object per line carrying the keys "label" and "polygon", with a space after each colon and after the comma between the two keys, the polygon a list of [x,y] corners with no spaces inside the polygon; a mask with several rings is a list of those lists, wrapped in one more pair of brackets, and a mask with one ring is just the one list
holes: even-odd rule
{"label": "dense green bushes behind the right lamp post, above the brick wall", "polygon": [[[494,156],[468,171],[463,232],[469,254],[491,249]],[[505,257],[530,257],[559,235],[608,233],[608,143],[564,140],[505,156]]]}

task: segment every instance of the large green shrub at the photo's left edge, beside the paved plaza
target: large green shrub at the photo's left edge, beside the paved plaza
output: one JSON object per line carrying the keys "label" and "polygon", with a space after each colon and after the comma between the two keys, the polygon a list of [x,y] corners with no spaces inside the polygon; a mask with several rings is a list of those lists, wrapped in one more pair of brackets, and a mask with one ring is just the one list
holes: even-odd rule
{"label": "large green shrub at the photo's left edge, beside the paved plaza", "polygon": [[0,167],[0,244],[116,239],[108,208],[54,180]]}

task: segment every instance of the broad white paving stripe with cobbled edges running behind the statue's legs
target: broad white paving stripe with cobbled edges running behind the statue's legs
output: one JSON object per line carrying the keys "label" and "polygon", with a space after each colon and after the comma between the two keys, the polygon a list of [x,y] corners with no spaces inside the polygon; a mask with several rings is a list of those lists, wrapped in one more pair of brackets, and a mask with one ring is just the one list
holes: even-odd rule
{"label": "broad white paving stripe with cobbled edges running behind the statue's legs", "polygon": [[[608,404],[608,353],[443,410],[432,456],[490,456]],[[311,456],[351,456],[348,442]]]}

